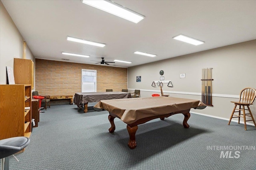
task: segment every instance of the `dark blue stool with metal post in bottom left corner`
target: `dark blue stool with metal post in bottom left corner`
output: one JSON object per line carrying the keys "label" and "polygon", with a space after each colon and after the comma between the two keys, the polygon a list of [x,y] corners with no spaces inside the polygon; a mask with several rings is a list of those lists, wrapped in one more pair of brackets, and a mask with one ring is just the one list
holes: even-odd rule
{"label": "dark blue stool with metal post in bottom left corner", "polygon": [[[27,137],[11,137],[0,140],[1,170],[9,170],[9,156],[24,149],[29,143],[30,139]],[[14,158],[16,157],[14,156]]]}

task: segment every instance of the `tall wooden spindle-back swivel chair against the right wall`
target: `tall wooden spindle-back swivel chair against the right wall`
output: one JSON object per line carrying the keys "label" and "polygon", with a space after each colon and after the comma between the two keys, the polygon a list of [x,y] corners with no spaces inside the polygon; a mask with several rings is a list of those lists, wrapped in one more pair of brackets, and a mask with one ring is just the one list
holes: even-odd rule
{"label": "tall wooden spindle-back swivel chair against the right wall", "polygon": [[[254,118],[252,116],[252,112],[250,110],[250,105],[254,102],[256,98],[256,90],[254,88],[244,88],[241,92],[240,92],[240,97],[239,97],[239,102],[232,102],[235,104],[234,109],[232,111],[232,114],[230,116],[228,125],[230,124],[230,121],[232,118],[234,118],[233,116],[238,117],[238,124],[240,124],[240,117],[244,118],[244,129],[246,129],[246,121],[253,121],[254,126],[256,127]],[[239,106],[239,109],[236,108],[236,106]],[[244,106],[247,106],[248,109],[245,109]],[[242,109],[241,109],[242,107]],[[238,111],[236,111],[238,110]],[[245,110],[248,110],[249,113],[245,113]],[[242,115],[241,115],[241,111],[242,111]],[[238,115],[234,115],[235,112],[238,112]],[[248,117],[252,117],[252,120],[246,120],[246,116]]]}

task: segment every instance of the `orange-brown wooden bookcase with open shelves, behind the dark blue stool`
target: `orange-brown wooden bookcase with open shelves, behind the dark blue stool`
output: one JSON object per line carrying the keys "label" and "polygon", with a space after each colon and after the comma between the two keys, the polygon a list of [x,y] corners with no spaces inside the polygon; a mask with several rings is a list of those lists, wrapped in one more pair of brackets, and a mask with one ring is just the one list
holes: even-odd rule
{"label": "orange-brown wooden bookcase with open shelves, behind the dark blue stool", "polygon": [[31,85],[0,85],[0,140],[31,135]]}

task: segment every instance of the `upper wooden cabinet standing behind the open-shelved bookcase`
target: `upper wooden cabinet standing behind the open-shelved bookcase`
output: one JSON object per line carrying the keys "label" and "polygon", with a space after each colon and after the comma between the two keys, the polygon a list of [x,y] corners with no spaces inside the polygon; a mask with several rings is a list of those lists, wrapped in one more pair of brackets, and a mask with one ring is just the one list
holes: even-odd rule
{"label": "upper wooden cabinet standing behind the open-shelved bookcase", "polygon": [[14,58],[14,81],[15,84],[31,84],[34,89],[34,62],[29,59]]}

